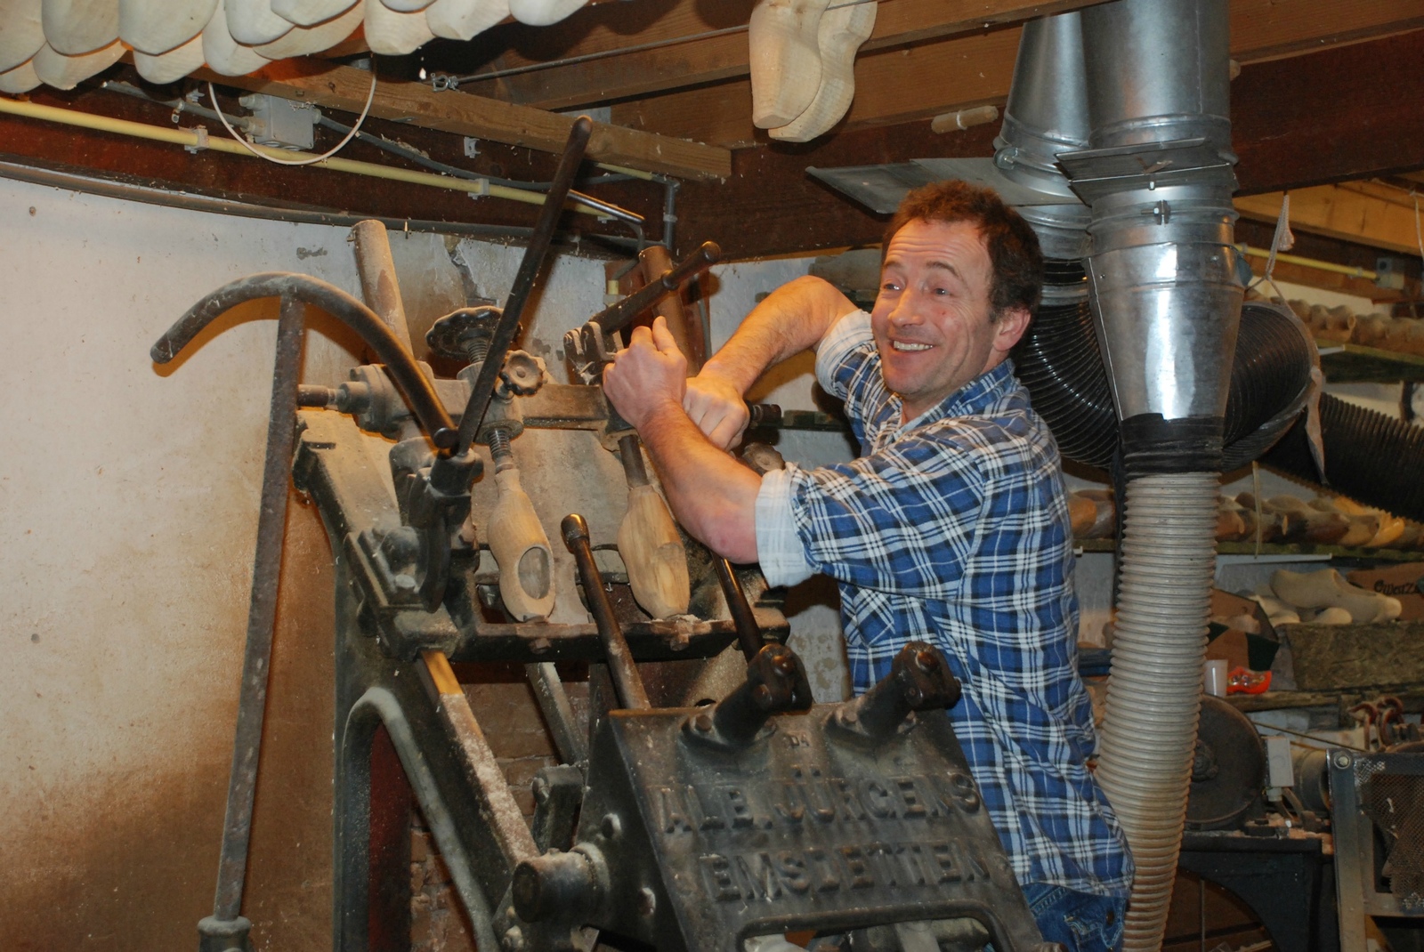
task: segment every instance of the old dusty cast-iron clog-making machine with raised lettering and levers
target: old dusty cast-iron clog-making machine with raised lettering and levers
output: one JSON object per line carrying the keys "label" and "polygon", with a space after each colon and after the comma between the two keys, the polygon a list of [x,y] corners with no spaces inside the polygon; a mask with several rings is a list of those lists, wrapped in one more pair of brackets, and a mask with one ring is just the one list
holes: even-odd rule
{"label": "old dusty cast-iron clog-making machine with raised lettering and levers", "polygon": [[[337,949],[373,943],[377,727],[481,951],[775,952],[797,948],[789,932],[836,936],[822,948],[1057,948],[1042,945],[954,739],[946,709],[960,687],[938,652],[911,643],[864,696],[813,704],[760,573],[679,534],[597,386],[612,333],[716,248],[570,332],[582,384],[545,383],[510,349],[588,131],[574,124],[506,306],[457,310],[430,332],[434,351],[467,363],[453,380],[414,361],[380,292],[367,290],[373,310],[302,275],[232,282],[154,346],[167,363],[228,309],[281,297],[238,736],[199,949],[251,948],[242,882],[289,465],[337,565]],[[337,388],[298,387],[306,306],[382,363]],[[393,433],[404,438],[382,435]],[[729,690],[711,690],[728,660]],[[456,675],[476,662],[524,666],[562,761],[533,777],[531,820]],[[588,670],[577,713],[570,662]]]}

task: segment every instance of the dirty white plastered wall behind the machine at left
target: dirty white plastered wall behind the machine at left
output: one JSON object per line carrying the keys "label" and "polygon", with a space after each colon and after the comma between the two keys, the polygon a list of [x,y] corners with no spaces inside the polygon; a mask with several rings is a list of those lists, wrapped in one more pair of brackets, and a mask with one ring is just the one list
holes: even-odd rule
{"label": "dirty white plastered wall behind the machine at left", "polygon": [[[392,243],[413,323],[464,303],[453,242]],[[521,249],[457,252],[504,296]],[[148,349],[262,270],[360,293],[346,228],[0,179],[0,948],[192,948],[212,911],[275,300],[169,367]],[[530,336],[557,343],[601,306],[601,262],[560,259],[540,300],[555,317]],[[336,384],[359,342],[309,326],[303,381]],[[330,559],[293,492],[245,905],[259,949],[330,943]]]}

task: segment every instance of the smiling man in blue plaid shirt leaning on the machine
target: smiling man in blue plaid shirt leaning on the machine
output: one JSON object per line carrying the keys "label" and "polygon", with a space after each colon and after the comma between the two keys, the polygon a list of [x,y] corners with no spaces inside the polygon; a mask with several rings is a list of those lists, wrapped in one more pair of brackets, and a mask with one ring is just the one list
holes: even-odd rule
{"label": "smiling man in blue plaid shirt leaning on the machine", "polygon": [[[682,525],[772,585],[840,583],[856,693],[911,639],[944,652],[964,694],[954,730],[1044,938],[1116,949],[1132,861],[1088,767],[1078,603],[1058,447],[1012,376],[1042,256],[998,196],[911,192],[886,232],[871,313],[829,283],[778,289],[699,376],[665,324],[604,377]],[[768,367],[816,350],[862,457],[756,477],[725,450]]]}

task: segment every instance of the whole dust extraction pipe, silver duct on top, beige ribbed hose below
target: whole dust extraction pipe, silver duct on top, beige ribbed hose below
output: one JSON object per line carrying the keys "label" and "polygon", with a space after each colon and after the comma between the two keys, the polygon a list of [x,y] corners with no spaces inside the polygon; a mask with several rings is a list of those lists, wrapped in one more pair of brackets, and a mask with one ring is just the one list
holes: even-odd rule
{"label": "whole dust extraction pipe, silver duct on top, beige ribbed hose below", "polygon": [[[1128,475],[1098,778],[1136,861],[1125,949],[1151,951],[1186,811],[1242,305],[1226,1],[1118,0],[1038,21],[1020,60],[997,164],[1051,179],[1047,152],[1091,209],[1084,268]],[[1069,145],[1081,102],[1087,149]],[[1021,211],[1049,256],[1071,256],[1071,209]]]}

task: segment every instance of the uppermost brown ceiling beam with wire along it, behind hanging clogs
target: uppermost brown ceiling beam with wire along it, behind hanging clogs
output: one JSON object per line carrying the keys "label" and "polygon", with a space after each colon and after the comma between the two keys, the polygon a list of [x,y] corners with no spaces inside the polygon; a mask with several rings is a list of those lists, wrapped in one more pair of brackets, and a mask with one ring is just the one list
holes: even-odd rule
{"label": "uppermost brown ceiling beam with wire along it, behind hanging clogs", "polygon": [[[1014,24],[1031,17],[1064,13],[1098,0],[1054,0],[1025,3],[1024,0],[881,0],[876,13],[876,27],[860,47],[862,55],[891,47],[904,47],[965,33]],[[709,6],[718,6],[709,11]],[[706,4],[698,0],[678,0],[659,20],[648,23],[637,34],[614,31],[618,13],[608,7],[592,11],[590,24],[578,41],[560,44],[560,31],[510,31],[508,40],[523,40],[520,53],[506,53],[490,60],[478,71],[523,70],[528,73],[497,80],[470,81],[461,90],[480,95],[520,102],[543,110],[564,110],[578,105],[608,102],[675,87],[689,87],[719,80],[745,77],[749,73],[748,40],[745,31],[722,33],[701,40],[641,50],[624,55],[609,55],[557,67],[541,63],[614,53],[624,47],[642,47],[679,37],[699,36],[745,26],[755,4],[729,0]],[[715,16],[713,16],[715,14]],[[627,16],[622,18],[628,18]],[[580,26],[572,26],[578,30]],[[1008,53],[1012,70],[1014,51]],[[535,68],[531,68],[535,67]]]}

